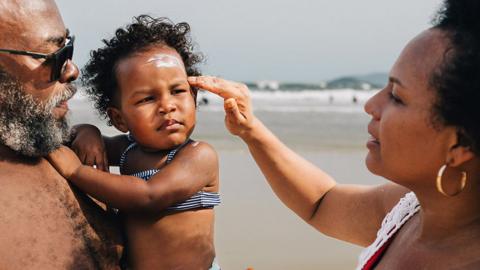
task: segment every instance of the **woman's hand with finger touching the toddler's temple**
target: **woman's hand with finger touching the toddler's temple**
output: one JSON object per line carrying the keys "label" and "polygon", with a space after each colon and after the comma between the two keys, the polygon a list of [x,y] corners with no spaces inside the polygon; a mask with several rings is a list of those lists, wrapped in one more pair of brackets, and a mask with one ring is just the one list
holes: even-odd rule
{"label": "woman's hand with finger touching the toddler's temple", "polygon": [[255,125],[250,91],[245,84],[211,76],[189,77],[188,82],[224,99],[225,125],[233,135],[248,137]]}

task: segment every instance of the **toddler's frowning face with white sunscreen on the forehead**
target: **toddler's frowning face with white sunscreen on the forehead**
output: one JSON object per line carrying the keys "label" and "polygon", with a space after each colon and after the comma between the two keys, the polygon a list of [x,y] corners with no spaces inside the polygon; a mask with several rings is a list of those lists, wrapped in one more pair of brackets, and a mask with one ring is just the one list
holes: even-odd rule
{"label": "toddler's frowning face with white sunscreen on the forehead", "polygon": [[116,76],[123,122],[145,149],[170,149],[195,127],[195,100],[183,61],[170,47],[154,47],[119,62]]}

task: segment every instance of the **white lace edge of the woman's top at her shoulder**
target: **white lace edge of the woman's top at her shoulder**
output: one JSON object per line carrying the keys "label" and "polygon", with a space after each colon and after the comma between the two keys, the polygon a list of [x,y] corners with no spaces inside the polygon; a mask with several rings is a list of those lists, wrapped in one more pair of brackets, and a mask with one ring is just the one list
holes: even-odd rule
{"label": "white lace edge of the woman's top at her shoulder", "polygon": [[368,260],[379,250],[415,213],[420,204],[413,192],[407,193],[397,205],[385,216],[382,226],[377,232],[377,239],[365,248],[358,258],[356,270],[361,270]]}

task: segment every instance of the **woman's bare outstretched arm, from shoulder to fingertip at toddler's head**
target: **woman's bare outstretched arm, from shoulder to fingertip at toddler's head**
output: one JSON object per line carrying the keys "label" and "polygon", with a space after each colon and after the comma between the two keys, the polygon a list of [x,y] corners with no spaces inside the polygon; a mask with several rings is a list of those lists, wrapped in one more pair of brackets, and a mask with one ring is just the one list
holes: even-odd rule
{"label": "woman's bare outstretched arm, from shoulder to fingertip at toddler's head", "polygon": [[248,88],[214,77],[189,78],[225,99],[225,124],[242,138],[273,191],[285,205],[319,231],[368,245],[387,211],[407,192],[398,185],[337,185],[325,172],[297,155],[252,113]]}

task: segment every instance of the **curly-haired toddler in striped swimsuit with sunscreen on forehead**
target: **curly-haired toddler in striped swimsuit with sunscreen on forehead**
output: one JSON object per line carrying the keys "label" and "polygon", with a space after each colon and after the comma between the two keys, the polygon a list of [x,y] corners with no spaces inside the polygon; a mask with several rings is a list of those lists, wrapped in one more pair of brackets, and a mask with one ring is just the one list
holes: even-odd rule
{"label": "curly-haired toddler in striped swimsuit with sunscreen on forehead", "polygon": [[[81,125],[73,142],[79,157],[66,147],[49,155],[70,182],[120,211],[132,269],[220,269],[217,154],[190,138],[197,88],[187,76],[199,74],[201,58],[189,33],[187,23],[146,15],[117,29],[92,53],[84,81],[100,113],[128,134],[102,139],[96,127]],[[122,175],[105,172],[108,165]]]}

